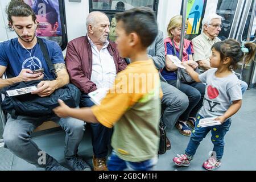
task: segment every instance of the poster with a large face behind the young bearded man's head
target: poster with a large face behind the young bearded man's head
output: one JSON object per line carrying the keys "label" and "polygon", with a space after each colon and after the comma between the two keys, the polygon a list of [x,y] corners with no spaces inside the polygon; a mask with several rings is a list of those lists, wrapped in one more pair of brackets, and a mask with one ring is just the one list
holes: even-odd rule
{"label": "poster with a large face behind the young bearded man's head", "polygon": [[36,36],[57,42],[61,49],[67,47],[64,0],[23,0],[35,11],[38,21]]}

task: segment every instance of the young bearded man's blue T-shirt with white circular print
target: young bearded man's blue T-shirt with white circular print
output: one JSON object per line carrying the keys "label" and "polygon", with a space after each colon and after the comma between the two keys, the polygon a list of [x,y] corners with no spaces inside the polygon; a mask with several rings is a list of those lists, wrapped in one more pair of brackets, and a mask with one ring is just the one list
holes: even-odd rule
{"label": "young bearded man's blue T-shirt with white circular print", "polygon": [[[43,42],[47,47],[52,64],[65,63],[61,48],[56,42],[46,39],[43,39]],[[31,52],[31,56],[29,52]],[[37,43],[32,50],[28,49],[27,51],[20,45],[18,38],[0,43],[0,65],[7,67],[6,72],[12,77],[18,76],[22,69],[34,71],[44,68],[44,79],[54,78],[53,74],[49,72],[39,44]]]}

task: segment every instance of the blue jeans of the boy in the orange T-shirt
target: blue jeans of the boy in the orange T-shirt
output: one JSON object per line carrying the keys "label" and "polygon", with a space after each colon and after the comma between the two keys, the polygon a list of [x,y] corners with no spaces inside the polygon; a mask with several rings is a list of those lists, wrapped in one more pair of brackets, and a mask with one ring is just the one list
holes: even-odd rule
{"label": "blue jeans of the boy in the orange T-shirt", "polygon": [[154,167],[158,163],[158,157],[146,160],[143,162],[129,162],[122,160],[117,156],[117,153],[113,150],[108,160],[109,171],[123,171],[128,168],[131,171],[153,171]]}

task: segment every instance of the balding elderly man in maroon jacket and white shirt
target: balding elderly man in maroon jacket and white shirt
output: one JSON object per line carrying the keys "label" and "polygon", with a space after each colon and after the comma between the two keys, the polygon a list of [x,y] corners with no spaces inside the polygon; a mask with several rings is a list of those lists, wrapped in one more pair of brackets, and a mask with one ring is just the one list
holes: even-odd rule
{"label": "balding elderly man in maroon jacket and white shirt", "polygon": [[[94,103],[88,96],[98,89],[109,89],[118,72],[126,68],[115,47],[108,41],[109,18],[94,11],[86,18],[88,34],[68,43],[66,64],[71,82],[82,92],[81,107],[91,107]],[[92,128],[94,171],[107,170],[106,158],[112,130],[101,124],[90,124]]]}

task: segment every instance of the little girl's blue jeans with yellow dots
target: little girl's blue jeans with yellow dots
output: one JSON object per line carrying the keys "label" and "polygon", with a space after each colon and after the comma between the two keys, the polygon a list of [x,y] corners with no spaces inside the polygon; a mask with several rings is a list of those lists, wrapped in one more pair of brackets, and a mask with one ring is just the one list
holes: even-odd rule
{"label": "little girl's blue jeans with yellow dots", "polygon": [[217,160],[221,160],[224,153],[224,137],[226,133],[229,131],[229,127],[231,125],[231,119],[228,119],[222,125],[209,126],[209,127],[203,127],[203,128],[197,127],[200,119],[203,119],[203,117],[201,117],[201,115],[197,115],[195,130],[193,130],[191,134],[191,138],[189,140],[187,149],[185,150],[185,154],[191,155],[191,156],[195,155],[197,147],[199,146],[201,140],[203,140],[205,136],[209,133],[209,131],[211,131],[212,132],[211,140],[212,140],[212,143],[214,144],[213,151],[216,152]]}

